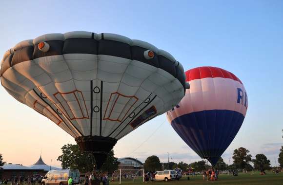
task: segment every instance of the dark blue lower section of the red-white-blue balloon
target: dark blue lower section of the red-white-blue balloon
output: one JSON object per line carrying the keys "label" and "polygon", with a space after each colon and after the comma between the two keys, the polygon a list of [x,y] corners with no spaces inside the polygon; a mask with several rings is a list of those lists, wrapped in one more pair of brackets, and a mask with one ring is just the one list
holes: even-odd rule
{"label": "dark blue lower section of the red-white-blue balloon", "polygon": [[210,110],[179,116],[171,126],[200,157],[213,159],[215,164],[235,138],[243,120],[243,114],[237,111]]}

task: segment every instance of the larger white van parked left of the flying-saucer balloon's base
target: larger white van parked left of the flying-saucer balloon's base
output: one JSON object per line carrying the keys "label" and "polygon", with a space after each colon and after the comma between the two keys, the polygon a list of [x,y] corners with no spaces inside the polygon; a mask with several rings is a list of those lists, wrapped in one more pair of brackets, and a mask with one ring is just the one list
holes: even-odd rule
{"label": "larger white van parked left of the flying-saucer balloon's base", "polygon": [[70,177],[73,178],[73,185],[79,184],[80,171],[78,169],[50,170],[43,176],[41,185],[68,185]]}

